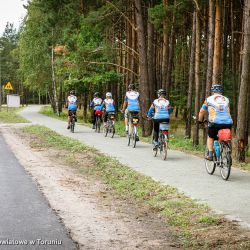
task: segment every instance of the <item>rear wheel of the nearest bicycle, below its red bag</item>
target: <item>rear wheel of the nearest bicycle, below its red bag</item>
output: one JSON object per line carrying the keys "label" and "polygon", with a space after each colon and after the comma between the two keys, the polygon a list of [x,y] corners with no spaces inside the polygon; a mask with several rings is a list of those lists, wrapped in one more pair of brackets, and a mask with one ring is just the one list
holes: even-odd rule
{"label": "rear wheel of the nearest bicycle, below its red bag", "polygon": [[228,180],[231,173],[232,157],[231,149],[227,143],[222,143],[220,174],[223,180]]}

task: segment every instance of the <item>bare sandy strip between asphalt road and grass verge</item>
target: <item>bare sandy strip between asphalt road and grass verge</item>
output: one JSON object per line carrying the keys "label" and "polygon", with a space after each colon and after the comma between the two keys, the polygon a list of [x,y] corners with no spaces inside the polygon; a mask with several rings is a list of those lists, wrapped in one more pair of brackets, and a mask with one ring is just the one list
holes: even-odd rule
{"label": "bare sandy strip between asphalt road and grass verge", "polygon": [[32,138],[10,128],[1,132],[79,249],[175,249],[166,225],[147,208],[115,198],[103,183],[62,162],[59,151],[31,148]]}

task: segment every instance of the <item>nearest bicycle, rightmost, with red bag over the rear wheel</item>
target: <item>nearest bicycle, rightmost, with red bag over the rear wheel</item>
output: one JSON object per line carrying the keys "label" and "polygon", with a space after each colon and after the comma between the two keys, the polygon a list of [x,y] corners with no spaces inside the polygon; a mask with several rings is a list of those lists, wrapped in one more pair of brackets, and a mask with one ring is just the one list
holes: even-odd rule
{"label": "nearest bicycle, rightmost, with red bag over the rear wheel", "polygon": [[216,167],[220,167],[220,175],[223,180],[228,180],[231,167],[232,167],[232,157],[231,157],[231,130],[230,129],[220,129],[218,132],[219,140],[214,141],[214,147],[218,143],[218,150],[213,151],[213,161],[206,159],[208,155],[208,149],[205,150],[205,166],[207,173],[213,175]]}

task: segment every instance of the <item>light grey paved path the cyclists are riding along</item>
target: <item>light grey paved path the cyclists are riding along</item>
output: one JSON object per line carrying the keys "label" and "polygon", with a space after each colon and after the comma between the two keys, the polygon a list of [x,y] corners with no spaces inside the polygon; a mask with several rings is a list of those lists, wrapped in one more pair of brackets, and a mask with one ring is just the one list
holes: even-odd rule
{"label": "light grey paved path the cyclists are riding along", "polygon": [[93,146],[163,184],[176,187],[189,197],[207,203],[216,212],[250,228],[250,173],[233,168],[229,180],[224,181],[218,170],[213,176],[208,175],[200,157],[169,150],[168,159],[163,161],[152,156],[149,144],[138,142],[134,149],[127,146],[126,138],[104,138],[91,128],[78,124],[73,134],[66,129],[66,122],[41,115],[39,109],[40,106],[29,106],[20,114],[33,123]]}

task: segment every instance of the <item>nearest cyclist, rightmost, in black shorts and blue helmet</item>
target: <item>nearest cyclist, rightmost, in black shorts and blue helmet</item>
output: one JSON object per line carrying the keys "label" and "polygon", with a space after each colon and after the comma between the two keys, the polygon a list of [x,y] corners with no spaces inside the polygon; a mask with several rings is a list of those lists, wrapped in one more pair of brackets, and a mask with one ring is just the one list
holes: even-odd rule
{"label": "nearest cyclist, rightmost, in black shorts and blue helmet", "polygon": [[230,115],[229,100],[223,96],[223,87],[220,84],[213,84],[211,87],[211,96],[203,103],[198,122],[202,123],[205,114],[208,112],[208,137],[207,148],[208,155],[206,159],[213,160],[213,144],[214,140],[218,140],[218,132],[220,129],[232,128],[233,120]]}

